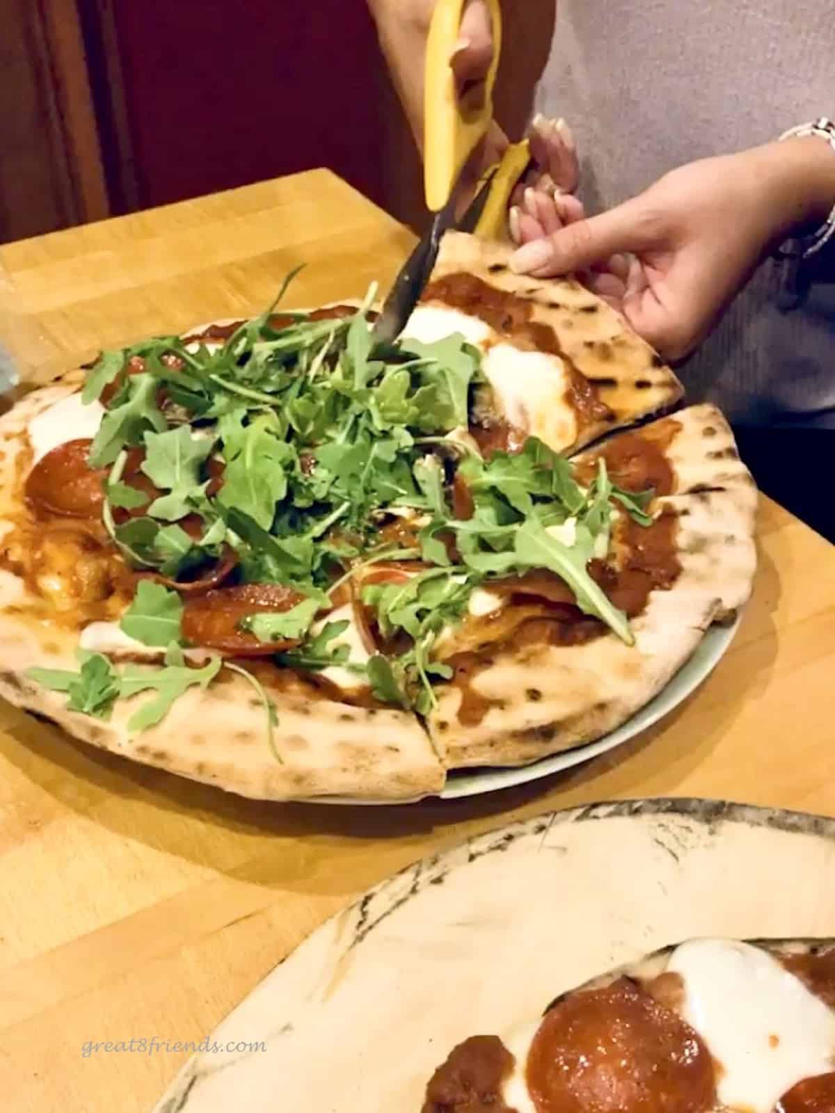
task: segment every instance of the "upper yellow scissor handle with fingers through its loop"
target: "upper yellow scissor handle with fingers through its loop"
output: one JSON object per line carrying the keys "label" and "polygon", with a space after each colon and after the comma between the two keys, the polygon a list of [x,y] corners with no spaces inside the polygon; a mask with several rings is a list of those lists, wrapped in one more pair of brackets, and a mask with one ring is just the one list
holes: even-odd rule
{"label": "upper yellow scissor handle with fingers through its loop", "polygon": [[426,206],[438,213],[450,199],[461,169],[493,118],[493,87],[501,53],[499,0],[485,0],[493,23],[493,60],[478,109],[459,104],[451,60],[460,38],[464,0],[436,0],[426,40],[424,88],[424,186]]}

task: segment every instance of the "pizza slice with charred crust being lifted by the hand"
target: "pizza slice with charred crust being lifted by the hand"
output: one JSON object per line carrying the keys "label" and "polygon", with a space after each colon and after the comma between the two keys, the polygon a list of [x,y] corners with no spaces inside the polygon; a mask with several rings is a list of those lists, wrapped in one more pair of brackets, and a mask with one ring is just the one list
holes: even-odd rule
{"label": "pizza slice with charred crust being lifted by the hand", "polygon": [[482,352],[471,425],[482,449],[536,436],[570,454],[681,398],[675,374],[610,305],[573,278],[514,274],[511,254],[448,233],[404,332],[430,342],[460,333]]}

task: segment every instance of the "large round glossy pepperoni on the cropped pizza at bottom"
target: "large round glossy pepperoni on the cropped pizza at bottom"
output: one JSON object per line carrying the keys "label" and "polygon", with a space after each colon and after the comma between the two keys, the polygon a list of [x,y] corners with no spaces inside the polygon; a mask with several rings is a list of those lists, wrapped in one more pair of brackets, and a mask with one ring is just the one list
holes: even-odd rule
{"label": "large round glossy pepperoni on the cropped pizza at bottom", "polygon": [[629,978],[576,993],[542,1020],[528,1054],[538,1113],[708,1113],[714,1064],[680,1016]]}

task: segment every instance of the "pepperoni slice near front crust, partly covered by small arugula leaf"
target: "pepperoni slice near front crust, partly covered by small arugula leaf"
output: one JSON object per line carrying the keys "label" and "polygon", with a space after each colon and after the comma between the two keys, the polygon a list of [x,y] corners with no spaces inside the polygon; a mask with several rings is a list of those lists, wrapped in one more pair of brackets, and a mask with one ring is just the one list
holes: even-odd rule
{"label": "pepperoni slice near front crust, partly covered by small arugula leaf", "polygon": [[297,641],[258,641],[253,633],[239,630],[248,614],[288,611],[304,595],[279,583],[245,583],[219,588],[186,600],[183,633],[195,646],[217,649],[235,657],[269,657],[297,646]]}

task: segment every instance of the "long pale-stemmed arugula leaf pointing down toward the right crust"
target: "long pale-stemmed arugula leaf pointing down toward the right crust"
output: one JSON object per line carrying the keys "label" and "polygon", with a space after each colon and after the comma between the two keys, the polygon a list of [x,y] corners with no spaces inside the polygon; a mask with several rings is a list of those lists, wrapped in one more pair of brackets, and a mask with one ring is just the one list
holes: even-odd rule
{"label": "long pale-stemmed arugula leaf pointing down toward the right crust", "polygon": [[627,646],[635,644],[626,614],[609,601],[586,569],[593,542],[584,526],[577,526],[577,541],[569,548],[547,533],[534,519],[528,519],[517,530],[513,543],[521,567],[547,568],[556,572],[573,591],[581,611],[602,619]]}

